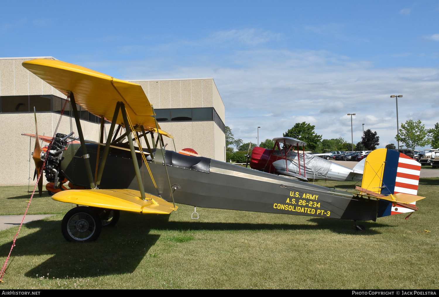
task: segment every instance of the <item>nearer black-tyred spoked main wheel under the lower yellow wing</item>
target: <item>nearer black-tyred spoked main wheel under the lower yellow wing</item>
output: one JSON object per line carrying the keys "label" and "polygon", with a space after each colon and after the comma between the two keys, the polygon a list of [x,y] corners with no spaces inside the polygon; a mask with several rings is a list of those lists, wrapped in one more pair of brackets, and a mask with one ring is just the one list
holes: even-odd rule
{"label": "nearer black-tyred spoked main wheel under the lower yellow wing", "polygon": [[102,223],[93,208],[78,206],[68,211],[61,222],[61,231],[67,241],[88,242],[101,234]]}

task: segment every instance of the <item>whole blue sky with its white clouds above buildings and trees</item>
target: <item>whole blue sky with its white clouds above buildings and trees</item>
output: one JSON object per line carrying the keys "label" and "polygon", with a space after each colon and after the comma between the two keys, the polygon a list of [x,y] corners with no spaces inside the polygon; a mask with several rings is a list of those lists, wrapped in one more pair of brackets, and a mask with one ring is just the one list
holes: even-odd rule
{"label": "whole blue sky with its white clouds above buildings and trees", "polygon": [[297,122],[323,138],[395,143],[439,122],[438,1],[21,1],[2,4],[0,57],[54,56],[126,79],[213,77],[245,142]]}

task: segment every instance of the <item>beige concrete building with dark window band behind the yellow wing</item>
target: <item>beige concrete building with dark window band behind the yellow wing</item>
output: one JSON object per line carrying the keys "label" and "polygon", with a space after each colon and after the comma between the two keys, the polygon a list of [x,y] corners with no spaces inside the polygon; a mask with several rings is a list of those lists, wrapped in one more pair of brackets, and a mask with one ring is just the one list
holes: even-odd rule
{"label": "beige concrete building with dark window band behind the yellow wing", "polygon": [[[22,66],[34,58],[55,59],[0,58],[0,186],[28,185],[33,177],[34,140],[21,134],[35,134],[34,106],[39,134],[52,136],[59,121],[59,133],[78,135],[68,104],[60,120],[65,95]],[[167,149],[175,144],[177,152],[193,148],[201,156],[225,161],[224,103],[212,78],[131,81],[142,86],[160,127],[174,136],[174,141],[164,138]],[[78,110],[84,137],[97,141],[99,117]]]}

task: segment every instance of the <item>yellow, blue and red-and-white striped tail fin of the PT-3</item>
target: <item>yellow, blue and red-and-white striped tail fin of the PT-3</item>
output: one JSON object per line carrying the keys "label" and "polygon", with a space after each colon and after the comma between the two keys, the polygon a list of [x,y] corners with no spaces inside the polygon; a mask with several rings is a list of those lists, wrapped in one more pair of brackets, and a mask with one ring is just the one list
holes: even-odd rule
{"label": "yellow, blue and red-and-white striped tail fin of the PT-3", "polygon": [[[417,210],[414,201],[419,200],[416,195],[421,164],[402,153],[386,148],[374,150],[367,156],[365,162],[361,188],[367,192],[362,192],[369,194],[374,192],[378,194],[377,196],[390,197],[389,199],[380,199],[378,217],[410,213]],[[395,198],[393,195],[398,193],[416,197],[407,198],[408,196],[405,196],[405,201],[410,201],[409,204],[392,201]]]}

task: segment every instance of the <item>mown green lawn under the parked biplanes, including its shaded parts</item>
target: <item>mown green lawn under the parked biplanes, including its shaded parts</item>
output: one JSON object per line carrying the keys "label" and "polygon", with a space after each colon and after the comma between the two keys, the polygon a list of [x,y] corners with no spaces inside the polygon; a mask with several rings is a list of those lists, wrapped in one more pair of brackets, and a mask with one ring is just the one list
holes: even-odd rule
{"label": "mown green lawn under the parked biplanes, including its shaded parts", "polygon": [[[353,183],[316,181],[353,188]],[[23,214],[28,187],[1,187],[0,214]],[[170,216],[122,213],[93,243],[68,243],[73,207],[35,197],[0,289],[438,289],[439,178],[421,178],[420,210],[364,222],[191,206]],[[18,227],[0,232],[4,263]],[[425,231],[428,230],[429,232]]]}

